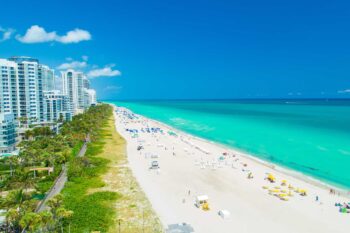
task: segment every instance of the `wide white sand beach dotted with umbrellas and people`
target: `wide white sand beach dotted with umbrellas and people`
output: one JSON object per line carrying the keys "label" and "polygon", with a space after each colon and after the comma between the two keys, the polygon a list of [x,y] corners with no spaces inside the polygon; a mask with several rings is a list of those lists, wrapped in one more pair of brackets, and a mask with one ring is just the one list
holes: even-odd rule
{"label": "wide white sand beach dotted with umbrellas and people", "polygon": [[[124,108],[114,115],[116,129],[127,141],[133,174],[165,228],[186,223],[199,233],[350,232],[350,214],[335,206],[350,202],[347,197],[276,171],[242,152],[133,117]],[[138,150],[139,146],[143,148]],[[160,169],[149,169],[152,161],[158,161]],[[275,183],[266,179],[268,173]],[[300,195],[301,189],[306,196]],[[198,195],[208,196],[210,210],[195,206]],[[220,210],[230,216],[220,217]]]}

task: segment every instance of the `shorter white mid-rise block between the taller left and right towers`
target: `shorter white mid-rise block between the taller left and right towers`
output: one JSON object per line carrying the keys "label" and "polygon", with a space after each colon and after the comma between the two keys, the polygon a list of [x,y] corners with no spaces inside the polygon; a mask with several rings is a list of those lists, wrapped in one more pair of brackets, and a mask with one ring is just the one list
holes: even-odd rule
{"label": "shorter white mid-rise block between the taller left and right towers", "polygon": [[72,111],[68,96],[59,90],[44,91],[44,122],[71,119]]}

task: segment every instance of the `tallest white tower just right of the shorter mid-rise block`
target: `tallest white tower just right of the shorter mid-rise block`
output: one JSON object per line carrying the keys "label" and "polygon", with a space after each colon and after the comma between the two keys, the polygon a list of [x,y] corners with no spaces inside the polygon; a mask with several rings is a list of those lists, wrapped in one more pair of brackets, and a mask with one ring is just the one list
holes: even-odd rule
{"label": "tallest white tower just right of the shorter mid-rise block", "polygon": [[87,78],[82,72],[72,69],[62,72],[63,94],[68,95],[74,114],[81,113],[85,109],[84,86],[86,83],[88,83]]}

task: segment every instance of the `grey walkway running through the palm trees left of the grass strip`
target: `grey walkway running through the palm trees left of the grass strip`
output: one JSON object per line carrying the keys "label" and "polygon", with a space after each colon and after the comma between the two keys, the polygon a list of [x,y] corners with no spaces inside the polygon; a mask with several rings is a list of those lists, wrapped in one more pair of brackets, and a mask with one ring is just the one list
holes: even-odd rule
{"label": "grey walkway running through the palm trees left of the grass strip", "polygon": [[[87,144],[90,142],[90,135],[88,135],[85,139],[85,142],[83,144],[83,146],[80,148],[80,151],[77,155],[77,157],[83,157],[86,153],[87,150]],[[38,205],[38,207],[36,208],[36,212],[41,212],[44,211],[48,208],[48,206],[46,205],[47,200],[50,200],[52,197],[56,196],[57,194],[59,194],[65,183],[67,182],[68,177],[67,177],[67,166],[63,165],[62,167],[62,171],[60,173],[60,175],[57,177],[57,179],[54,182],[54,185],[51,187],[51,189],[47,192],[47,194],[45,195],[44,199],[40,202],[40,204]]]}

